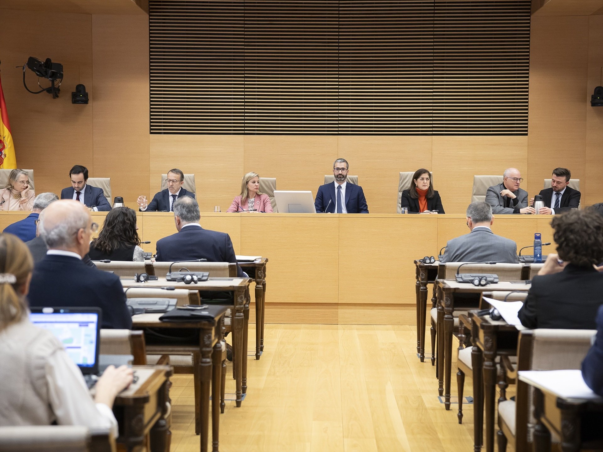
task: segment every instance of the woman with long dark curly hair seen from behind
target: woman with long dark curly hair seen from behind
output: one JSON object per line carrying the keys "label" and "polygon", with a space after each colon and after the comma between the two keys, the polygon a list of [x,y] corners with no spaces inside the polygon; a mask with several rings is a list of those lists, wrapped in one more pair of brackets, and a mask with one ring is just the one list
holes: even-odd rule
{"label": "woman with long dark curly hair seen from behind", "polygon": [[90,243],[90,259],[111,261],[144,261],[136,226],[136,212],[129,207],[111,209],[103,229]]}

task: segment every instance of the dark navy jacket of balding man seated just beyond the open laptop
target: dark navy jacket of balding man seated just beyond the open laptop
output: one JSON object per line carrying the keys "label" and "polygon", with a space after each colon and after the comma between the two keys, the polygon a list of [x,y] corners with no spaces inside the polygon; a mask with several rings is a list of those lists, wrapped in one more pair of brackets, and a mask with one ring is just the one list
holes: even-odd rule
{"label": "dark navy jacket of balding man seated just beyond the open laptop", "polygon": [[38,262],[27,298],[35,307],[95,306],[103,310],[103,328],[132,327],[119,276],[71,256],[46,255]]}

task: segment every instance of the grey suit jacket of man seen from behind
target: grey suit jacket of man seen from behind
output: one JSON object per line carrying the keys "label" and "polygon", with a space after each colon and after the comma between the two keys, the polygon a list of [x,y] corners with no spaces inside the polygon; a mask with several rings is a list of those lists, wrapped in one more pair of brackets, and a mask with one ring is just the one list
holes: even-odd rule
{"label": "grey suit jacket of man seen from behind", "polygon": [[498,262],[519,264],[517,244],[479,226],[469,234],[453,238],[446,244],[441,262]]}

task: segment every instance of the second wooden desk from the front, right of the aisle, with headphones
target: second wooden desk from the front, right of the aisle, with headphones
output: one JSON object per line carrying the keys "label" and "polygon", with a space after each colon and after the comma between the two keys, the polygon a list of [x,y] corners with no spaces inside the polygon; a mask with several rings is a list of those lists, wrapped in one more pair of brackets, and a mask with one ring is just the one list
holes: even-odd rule
{"label": "second wooden desk from the front, right of the aisle, with headphones", "polygon": [[[455,309],[478,308],[479,297],[483,292],[492,291],[528,291],[529,284],[523,281],[500,281],[487,286],[459,283],[455,280],[438,279],[435,281],[438,307],[438,392],[442,395],[444,389],[444,406],[450,409],[450,373],[452,366],[452,332],[454,329]],[[459,295],[473,294],[475,299],[463,304],[456,302]],[[489,348],[488,348],[489,350]],[[443,356],[441,356],[443,355]],[[488,374],[488,378],[489,378]],[[445,387],[443,383],[445,380]],[[494,382],[496,382],[496,365],[494,365]]]}

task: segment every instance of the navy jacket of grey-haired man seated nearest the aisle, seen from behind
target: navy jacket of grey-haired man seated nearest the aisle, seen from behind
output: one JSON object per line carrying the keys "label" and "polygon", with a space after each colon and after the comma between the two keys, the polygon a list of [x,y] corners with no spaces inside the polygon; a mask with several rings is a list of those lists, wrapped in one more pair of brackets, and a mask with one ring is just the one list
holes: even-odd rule
{"label": "navy jacket of grey-haired man seated nearest the aisle, seen from behind", "polygon": [[[189,259],[207,259],[207,262],[236,263],[235,250],[230,235],[224,232],[210,231],[201,226],[186,226],[180,232],[157,240],[157,262],[188,261]],[[185,262],[174,269],[186,267]],[[237,265],[237,276],[243,277],[243,270]]]}

